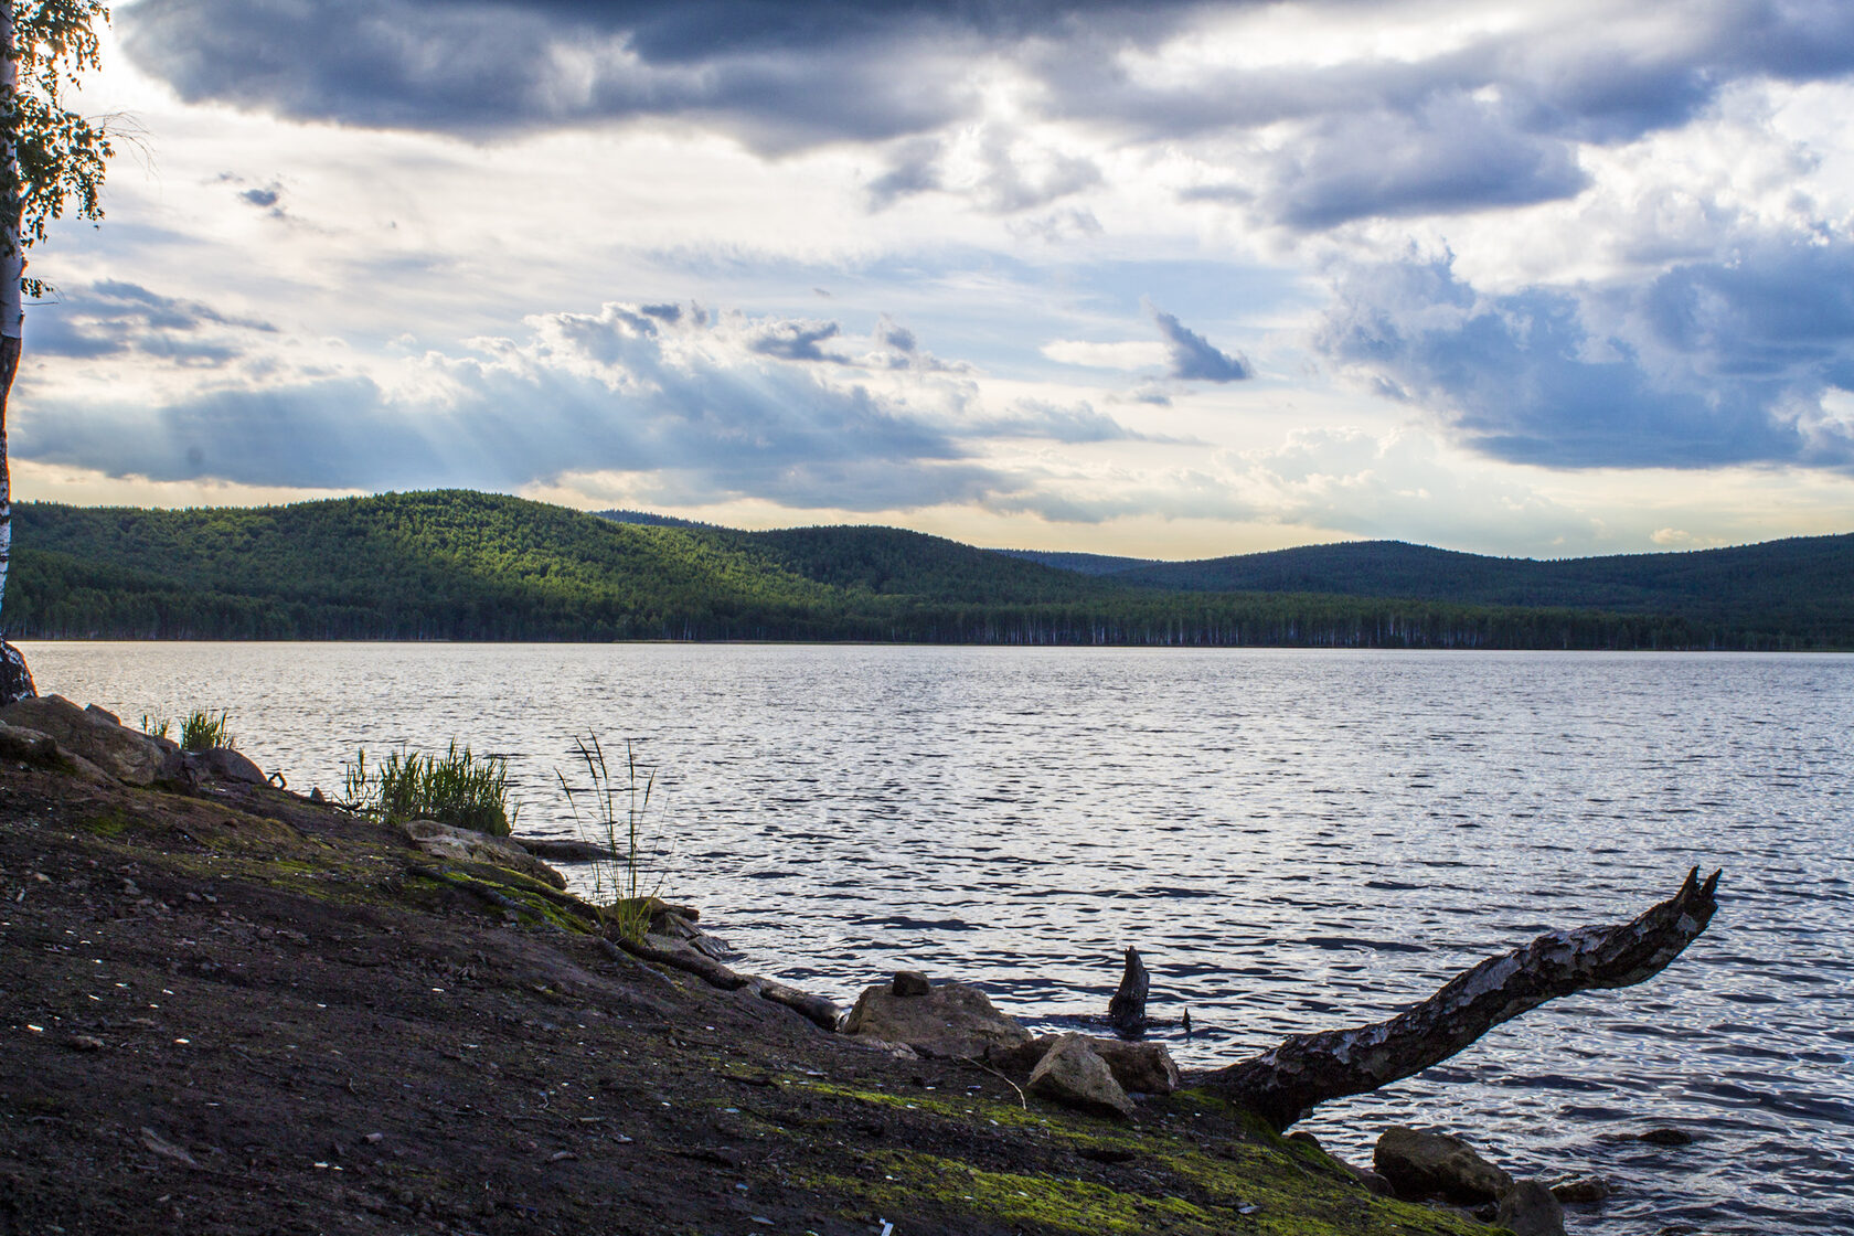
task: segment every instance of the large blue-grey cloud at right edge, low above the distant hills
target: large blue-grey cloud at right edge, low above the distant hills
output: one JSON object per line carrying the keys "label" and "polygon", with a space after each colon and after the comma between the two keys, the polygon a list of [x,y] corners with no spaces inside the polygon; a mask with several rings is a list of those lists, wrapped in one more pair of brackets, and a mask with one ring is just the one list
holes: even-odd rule
{"label": "large blue-grey cloud at right edge, low above the distant hills", "polygon": [[1448,263],[1400,263],[1353,271],[1339,293],[1326,350],[1500,460],[1854,469],[1848,426],[1821,413],[1854,371],[1850,245],[1507,296],[1478,296]]}

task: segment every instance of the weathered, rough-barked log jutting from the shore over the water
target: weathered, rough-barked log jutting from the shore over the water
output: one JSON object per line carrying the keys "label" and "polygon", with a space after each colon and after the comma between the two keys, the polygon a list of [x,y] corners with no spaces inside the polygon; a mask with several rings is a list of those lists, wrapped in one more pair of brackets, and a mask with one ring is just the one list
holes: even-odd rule
{"label": "weathered, rough-barked log jutting from the shore over the water", "polygon": [[1287,1129],[1318,1103],[1359,1095],[1411,1077],[1528,1008],[1587,988],[1628,988],[1657,975],[1711,921],[1721,873],[1700,869],[1669,901],[1632,923],[1539,936],[1487,958],[1389,1021],[1296,1034],[1274,1049],[1196,1078]]}

